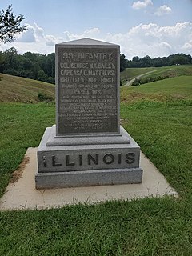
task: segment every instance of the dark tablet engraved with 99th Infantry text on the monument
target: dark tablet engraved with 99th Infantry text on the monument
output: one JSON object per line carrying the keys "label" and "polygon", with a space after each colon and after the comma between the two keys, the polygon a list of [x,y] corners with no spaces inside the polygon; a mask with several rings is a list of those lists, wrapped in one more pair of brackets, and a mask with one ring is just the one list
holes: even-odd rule
{"label": "dark tablet engraved with 99th Infantry text on the monument", "polygon": [[58,134],[118,132],[117,48],[58,48]]}

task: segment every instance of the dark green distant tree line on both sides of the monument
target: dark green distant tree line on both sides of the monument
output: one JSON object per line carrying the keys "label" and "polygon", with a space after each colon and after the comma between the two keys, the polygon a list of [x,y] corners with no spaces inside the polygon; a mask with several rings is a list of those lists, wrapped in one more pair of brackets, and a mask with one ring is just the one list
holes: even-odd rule
{"label": "dark green distant tree line on both sides of the monument", "polygon": [[[145,56],[139,58],[135,56],[132,60],[127,60],[124,54],[120,55],[120,71],[131,67],[150,66],[171,66],[189,65],[192,58],[186,54],[172,54],[163,58],[150,58]],[[18,54],[14,47],[0,51],[0,73],[12,74],[23,78],[31,78],[42,82],[55,82],[55,54],[35,54],[26,52]]]}

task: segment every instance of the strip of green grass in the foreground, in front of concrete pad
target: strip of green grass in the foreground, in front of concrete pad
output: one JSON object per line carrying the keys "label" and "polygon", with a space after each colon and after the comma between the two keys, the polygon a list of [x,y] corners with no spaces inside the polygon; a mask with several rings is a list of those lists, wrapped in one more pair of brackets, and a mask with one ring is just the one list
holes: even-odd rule
{"label": "strip of green grass in the foreground, in front of concrete pad", "polygon": [[0,214],[2,255],[191,256],[191,204],[174,198]]}

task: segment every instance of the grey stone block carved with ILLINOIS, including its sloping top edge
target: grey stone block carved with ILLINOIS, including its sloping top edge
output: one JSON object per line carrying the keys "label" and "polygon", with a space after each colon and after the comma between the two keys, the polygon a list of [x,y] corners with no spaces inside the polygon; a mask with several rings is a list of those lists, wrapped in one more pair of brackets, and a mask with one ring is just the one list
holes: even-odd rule
{"label": "grey stone block carved with ILLINOIS, including its sloping top edge", "polygon": [[138,168],[140,148],[126,130],[124,133],[130,144],[113,144],[111,140],[110,144],[46,146],[51,135],[51,128],[46,128],[38,147],[38,172]]}

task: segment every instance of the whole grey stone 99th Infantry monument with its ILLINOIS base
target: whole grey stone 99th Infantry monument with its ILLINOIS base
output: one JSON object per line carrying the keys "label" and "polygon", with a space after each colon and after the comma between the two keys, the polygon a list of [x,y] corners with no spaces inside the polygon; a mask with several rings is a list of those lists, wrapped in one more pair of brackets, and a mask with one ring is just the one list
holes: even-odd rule
{"label": "whole grey stone 99th Infantry monument with its ILLINOIS base", "polygon": [[120,126],[119,48],[56,45],[56,126],[38,146],[37,189],[142,182],[140,148]]}

